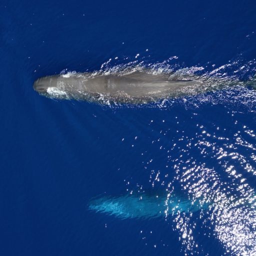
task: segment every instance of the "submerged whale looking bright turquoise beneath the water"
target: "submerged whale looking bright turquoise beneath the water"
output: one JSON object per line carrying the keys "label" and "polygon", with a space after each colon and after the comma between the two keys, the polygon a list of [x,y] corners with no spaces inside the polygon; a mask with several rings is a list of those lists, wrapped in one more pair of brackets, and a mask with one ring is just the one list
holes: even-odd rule
{"label": "submerged whale looking bright turquoise beneath the water", "polygon": [[190,213],[208,209],[208,203],[199,200],[190,201],[182,196],[126,194],[117,197],[101,196],[89,202],[89,209],[113,215],[118,218],[155,218]]}

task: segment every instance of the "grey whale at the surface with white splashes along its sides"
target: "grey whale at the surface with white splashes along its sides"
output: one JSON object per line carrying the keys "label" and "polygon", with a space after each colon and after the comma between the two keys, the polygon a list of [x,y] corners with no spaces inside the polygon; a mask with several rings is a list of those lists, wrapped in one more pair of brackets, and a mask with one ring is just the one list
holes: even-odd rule
{"label": "grey whale at the surface with white splashes along its sides", "polygon": [[129,74],[74,73],[44,76],[33,88],[45,96],[75,99],[96,99],[143,103],[164,98],[178,88],[198,84],[193,80],[173,80],[169,74],[134,71]]}

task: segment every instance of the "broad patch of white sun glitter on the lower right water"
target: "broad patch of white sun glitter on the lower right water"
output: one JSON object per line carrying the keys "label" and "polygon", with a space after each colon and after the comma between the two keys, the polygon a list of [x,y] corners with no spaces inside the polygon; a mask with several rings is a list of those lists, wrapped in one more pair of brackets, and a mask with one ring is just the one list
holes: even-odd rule
{"label": "broad patch of white sun glitter on the lower right water", "polygon": [[[246,97],[246,91],[243,92],[242,96]],[[226,253],[256,253],[256,192],[252,187],[256,148],[253,129],[241,118],[254,112],[251,110],[254,103],[247,102],[245,108],[223,110],[223,115],[233,123],[228,123],[233,125],[232,129],[219,122],[221,116],[208,116],[200,124],[196,121],[199,113],[195,111],[193,118],[177,116],[178,121],[172,122],[170,128],[160,130],[161,136],[171,140],[170,147],[166,144],[158,147],[163,152],[162,159],[167,159],[162,165],[167,166],[169,173],[150,170],[151,160],[144,161],[150,173],[149,182],[152,187],[158,183],[166,188],[166,200],[170,194],[183,191],[191,202],[199,200],[201,205],[209,205],[208,209],[202,207],[199,215],[179,212],[173,216],[166,204],[166,220],[173,216],[172,228],[178,232],[186,254],[205,251],[196,240],[198,227],[208,230],[205,236],[218,239]],[[204,103],[200,104],[202,107]],[[161,139],[155,136],[154,143],[160,144]]]}

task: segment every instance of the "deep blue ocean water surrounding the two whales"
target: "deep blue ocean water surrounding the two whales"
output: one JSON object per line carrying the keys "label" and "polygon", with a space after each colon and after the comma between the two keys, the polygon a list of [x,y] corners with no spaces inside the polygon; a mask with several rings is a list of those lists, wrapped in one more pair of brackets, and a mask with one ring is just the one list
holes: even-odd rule
{"label": "deep blue ocean water surrounding the two whales", "polygon": [[[236,0],[1,0],[0,255],[256,255],[256,91],[238,82],[256,73],[255,13]],[[32,88],[127,64],[237,82],[117,107]],[[211,206],[157,218],[88,208],[138,189]]]}

